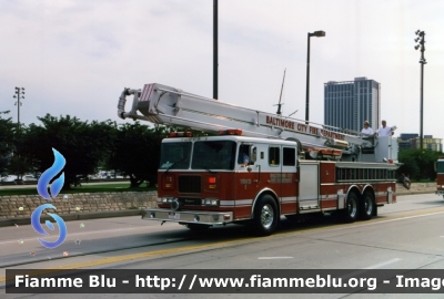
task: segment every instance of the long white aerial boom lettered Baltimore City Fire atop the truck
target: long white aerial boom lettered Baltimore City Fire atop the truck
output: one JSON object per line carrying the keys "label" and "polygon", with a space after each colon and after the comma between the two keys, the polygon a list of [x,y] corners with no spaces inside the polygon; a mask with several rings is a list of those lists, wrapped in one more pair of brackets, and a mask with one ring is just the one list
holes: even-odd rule
{"label": "long white aerial boom lettered Baltimore City Fire atop the truck", "polygon": [[[124,111],[128,95],[134,96],[130,112]],[[372,146],[359,132],[245,109],[157,83],[145,84],[143,90],[124,89],[118,115],[204,132],[242,130],[244,136],[299,141],[305,150],[340,148],[343,159],[349,156],[352,161],[357,161],[362,146]]]}

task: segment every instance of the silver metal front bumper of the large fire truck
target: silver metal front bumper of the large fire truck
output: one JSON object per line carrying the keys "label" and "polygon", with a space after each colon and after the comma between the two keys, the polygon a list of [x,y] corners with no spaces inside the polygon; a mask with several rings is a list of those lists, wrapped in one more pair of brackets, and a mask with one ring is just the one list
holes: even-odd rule
{"label": "silver metal front bumper of the large fire truck", "polygon": [[171,210],[165,208],[144,208],[142,219],[173,221],[183,224],[225,225],[233,221],[232,212]]}

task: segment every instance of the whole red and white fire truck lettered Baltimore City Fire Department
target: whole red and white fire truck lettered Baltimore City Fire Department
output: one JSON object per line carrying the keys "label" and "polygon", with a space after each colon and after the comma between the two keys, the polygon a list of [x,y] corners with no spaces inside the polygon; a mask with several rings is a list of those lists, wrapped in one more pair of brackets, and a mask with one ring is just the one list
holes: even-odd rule
{"label": "whole red and white fire truck lettered Baltimore City Fire Department", "polygon": [[396,202],[397,142],[389,136],[363,136],[157,83],[124,89],[118,115],[219,134],[172,132],[162,141],[158,208],[144,208],[142,219],[193,230],[248,223],[270,235],[281,216],[340,213],[354,221]]}

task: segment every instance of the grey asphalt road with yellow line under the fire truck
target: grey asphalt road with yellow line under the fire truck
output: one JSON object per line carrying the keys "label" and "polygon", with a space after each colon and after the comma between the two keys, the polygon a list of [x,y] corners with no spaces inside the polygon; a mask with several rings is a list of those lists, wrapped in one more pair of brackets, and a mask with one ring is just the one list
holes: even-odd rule
{"label": "grey asphalt road with yellow line under the fire truck", "polygon": [[[30,225],[0,228],[0,287],[4,269],[443,269],[444,200],[434,194],[398,196],[369,221],[334,217],[292,224],[258,238],[243,226],[189,231],[139,216],[69,221],[60,247],[46,249]],[[32,254],[31,254],[32,252]],[[67,252],[68,256],[64,256]],[[24,298],[28,295],[0,297]],[[61,295],[31,295],[59,298]],[[62,295],[63,298],[148,298],[147,295]],[[268,298],[273,295],[211,295]],[[418,298],[421,295],[299,295],[299,298]],[[150,295],[149,298],[209,298],[209,295]],[[279,295],[294,298],[294,295]],[[427,295],[442,298],[442,295]]]}

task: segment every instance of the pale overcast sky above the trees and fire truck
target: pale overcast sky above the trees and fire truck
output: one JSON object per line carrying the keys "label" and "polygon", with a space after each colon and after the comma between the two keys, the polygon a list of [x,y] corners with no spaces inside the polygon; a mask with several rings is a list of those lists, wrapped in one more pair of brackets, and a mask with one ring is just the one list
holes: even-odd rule
{"label": "pale overcast sky above the trees and fire truck", "polygon": [[[395,136],[420,133],[423,30],[424,134],[444,138],[443,16],[433,0],[219,0],[219,100],[275,113],[286,69],[283,115],[304,120],[307,33],[323,30],[311,38],[310,121],[323,123],[324,83],[365,76]],[[0,111],[13,122],[16,86],[27,125],[47,113],[132,122],[118,99],[147,83],[213,95],[212,0],[1,0],[0,37]]]}

